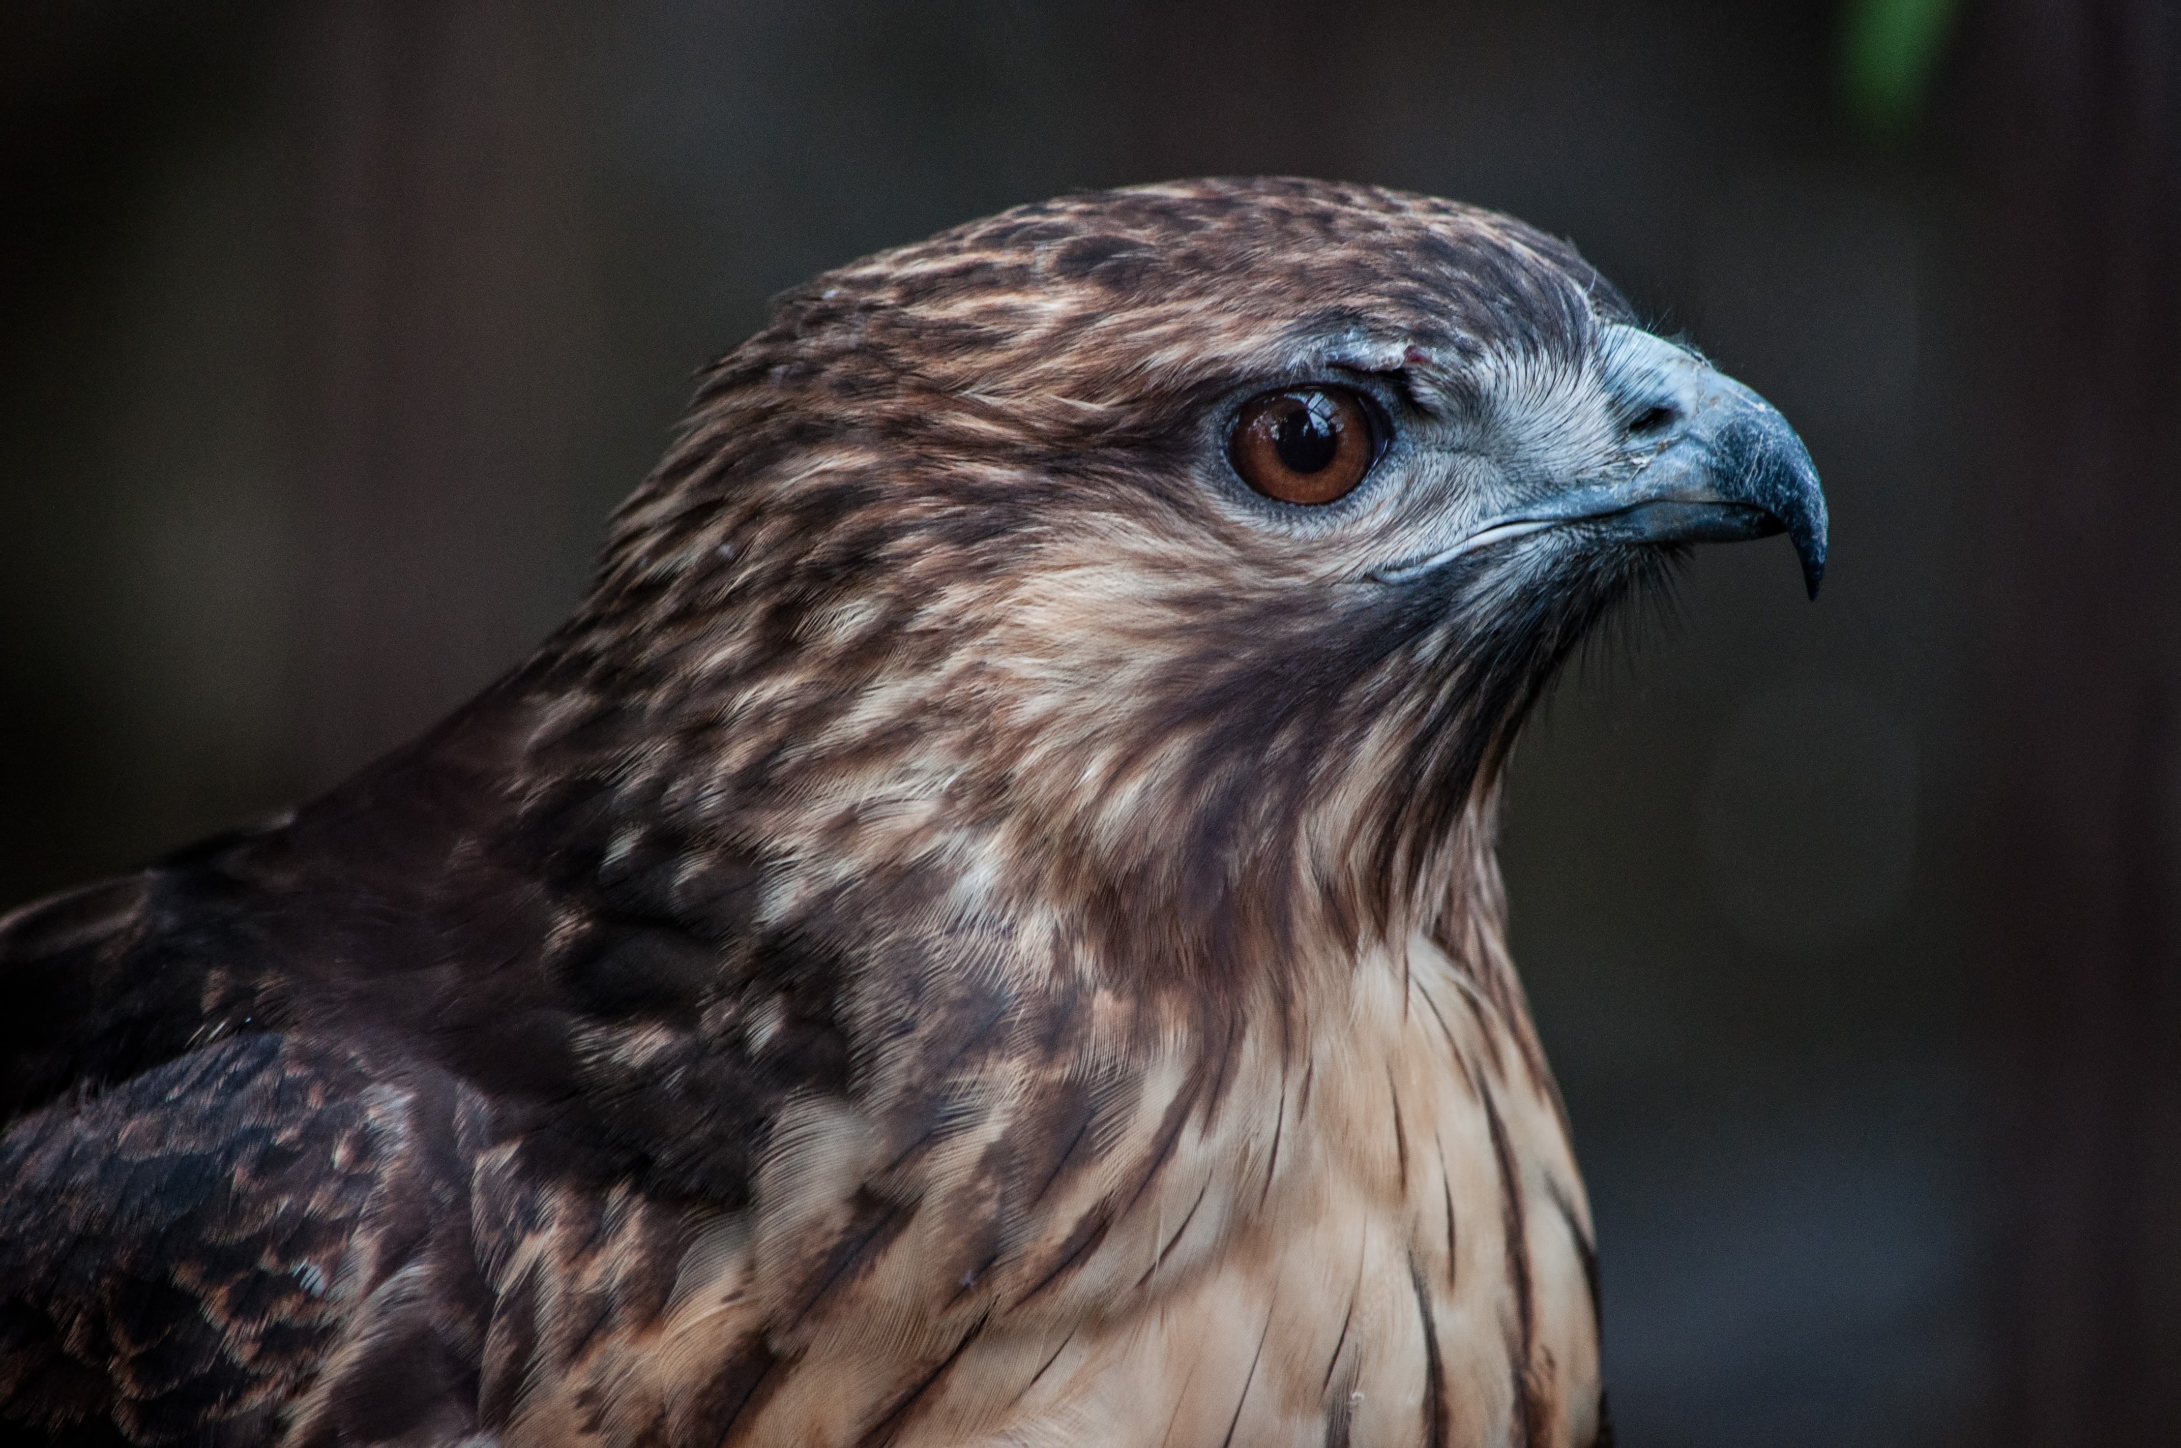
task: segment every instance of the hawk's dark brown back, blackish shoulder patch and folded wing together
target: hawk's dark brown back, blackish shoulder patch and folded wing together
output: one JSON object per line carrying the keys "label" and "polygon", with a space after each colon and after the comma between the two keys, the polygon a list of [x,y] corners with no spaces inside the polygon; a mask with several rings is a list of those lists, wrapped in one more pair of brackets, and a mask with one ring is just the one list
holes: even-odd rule
{"label": "hawk's dark brown back, blackish shoulder patch and folded wing together", "polygon": [[844,1086],[838,953],[613,794],[611,717],[537,739],[510,685],[292,820],[0,920],[0,1439],[489,1428],[532,1363],[491,1265],[537,1202],[739,1206],[779,1103]]}

